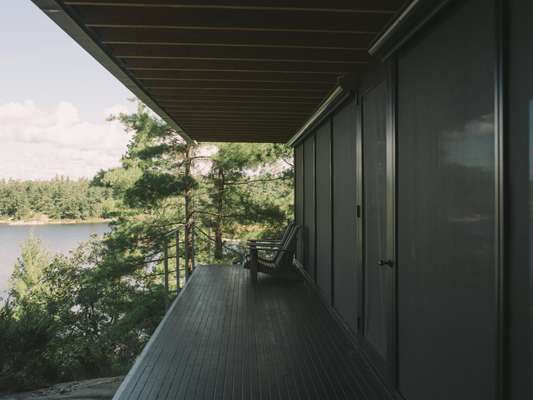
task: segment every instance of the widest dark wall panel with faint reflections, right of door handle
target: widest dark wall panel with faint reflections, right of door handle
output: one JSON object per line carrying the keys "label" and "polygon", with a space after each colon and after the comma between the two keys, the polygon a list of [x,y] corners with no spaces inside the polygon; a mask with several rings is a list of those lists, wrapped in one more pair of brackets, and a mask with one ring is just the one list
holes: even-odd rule
{"label": "widest dark wall panel with faint reflections, right of door handle", "polygon": [[[399,57],[399,384],[495,398],[493,2],[457,2]],[[475,23],[474,23],[475,21]]]}

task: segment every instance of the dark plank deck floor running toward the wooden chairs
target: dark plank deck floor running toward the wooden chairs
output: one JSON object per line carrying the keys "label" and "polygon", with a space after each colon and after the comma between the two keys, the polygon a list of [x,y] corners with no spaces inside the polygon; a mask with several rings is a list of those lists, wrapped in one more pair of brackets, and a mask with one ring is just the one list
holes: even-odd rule
{"label": "dark plank deck floor running toward the wooden chairs", "polygon": [[114,397],[388,399],[305,282],[199,267]]}

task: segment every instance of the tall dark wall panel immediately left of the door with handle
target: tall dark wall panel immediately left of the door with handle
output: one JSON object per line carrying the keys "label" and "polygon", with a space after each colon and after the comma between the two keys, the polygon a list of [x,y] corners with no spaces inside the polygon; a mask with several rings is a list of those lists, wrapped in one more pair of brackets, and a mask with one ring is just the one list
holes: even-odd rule
{"label": "tall dark wall panel immediately left of the door with handle", "polygon": [[356,113],[350,102],[333,117],[333,265],[335,309],[356,331],[358,265],[356,250]]}

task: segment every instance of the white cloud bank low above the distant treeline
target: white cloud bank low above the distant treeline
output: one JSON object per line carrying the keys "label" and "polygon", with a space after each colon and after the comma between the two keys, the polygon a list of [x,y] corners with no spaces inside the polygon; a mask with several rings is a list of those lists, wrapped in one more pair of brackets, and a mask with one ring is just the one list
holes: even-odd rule
{"label": "white cloud bank low above the distant treeline", "polygon": [[[105,112],[127,110],[114,105]],[[0,104],[0,178],[91,177],[118,166],[129,139],[116,121],[82,121],[68,102],[53,110],[32,101]]]}

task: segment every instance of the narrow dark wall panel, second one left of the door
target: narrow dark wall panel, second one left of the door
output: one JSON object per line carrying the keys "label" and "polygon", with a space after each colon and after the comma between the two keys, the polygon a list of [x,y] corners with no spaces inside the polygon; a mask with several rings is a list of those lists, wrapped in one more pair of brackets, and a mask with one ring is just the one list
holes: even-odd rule
{"label": "narrow dark wall panel, second one left of the door", "polygon": [[316,274],[317,285],[331,301],[331,122],[316,131]]}

